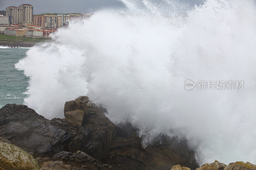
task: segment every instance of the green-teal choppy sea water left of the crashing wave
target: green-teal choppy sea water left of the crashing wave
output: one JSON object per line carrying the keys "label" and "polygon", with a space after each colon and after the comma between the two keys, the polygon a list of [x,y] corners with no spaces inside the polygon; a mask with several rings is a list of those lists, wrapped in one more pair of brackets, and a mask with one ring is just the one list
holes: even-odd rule
{"label": "green-teal choppy sea water left of the crashing wave", "polygon": [[23,104],[28,87],[24,71],[15,69],[14,64],[26,56],[28,48],[0,47],[0,108],[6,104]]}

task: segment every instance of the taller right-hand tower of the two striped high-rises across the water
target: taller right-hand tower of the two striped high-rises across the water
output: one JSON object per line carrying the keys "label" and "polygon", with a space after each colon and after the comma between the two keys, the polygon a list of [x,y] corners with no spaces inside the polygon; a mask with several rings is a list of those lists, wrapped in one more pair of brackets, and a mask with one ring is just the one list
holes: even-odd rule
{"label": "taller right-hand tower of the two striped high-rises across the water", "polygon": [[19,24],[22,26],[33,24],[33,5],[22,4],[19,6]]}

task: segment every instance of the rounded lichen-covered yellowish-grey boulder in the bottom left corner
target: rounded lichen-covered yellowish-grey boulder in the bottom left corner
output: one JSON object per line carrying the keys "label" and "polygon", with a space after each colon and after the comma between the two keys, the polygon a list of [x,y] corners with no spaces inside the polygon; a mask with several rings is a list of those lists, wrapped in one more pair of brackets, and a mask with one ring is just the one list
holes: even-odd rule
{"label": "rounded lichen-covered yellowish-grey boulder in the bottom left corner", "polygon": [[0,141],[0,169],[37,170],[36,160],[19,147]]}

